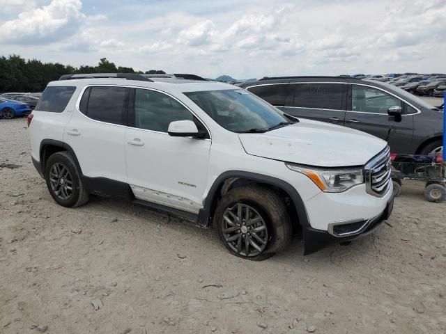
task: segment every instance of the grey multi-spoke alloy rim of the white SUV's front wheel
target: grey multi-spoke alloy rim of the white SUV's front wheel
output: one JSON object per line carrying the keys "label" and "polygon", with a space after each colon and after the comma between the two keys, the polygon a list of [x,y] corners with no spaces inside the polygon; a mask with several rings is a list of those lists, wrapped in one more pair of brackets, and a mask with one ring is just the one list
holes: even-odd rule
{"label": "grey multi-spoke alloy rim of the white SUV's front wheel", "polygon": [[239,255],[254,257],[265,250],[268,228],[261,214],[253,207],[237,203],[227,208],[221,224],[226,244]]}

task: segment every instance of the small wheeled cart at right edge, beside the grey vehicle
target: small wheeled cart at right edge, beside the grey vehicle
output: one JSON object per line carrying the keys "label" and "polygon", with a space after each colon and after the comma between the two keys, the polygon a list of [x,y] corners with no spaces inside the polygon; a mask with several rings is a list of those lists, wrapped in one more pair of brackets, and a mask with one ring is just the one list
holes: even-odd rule
{"label": "small wheeled cart at right edge, beside the grey vehicle", "polygon": [[429,202],[446,200],[446,161],[414,163],[392,161],[392,181],[394,195],[401,193],[401,180],[421,180],[426,182],[424,197]]}

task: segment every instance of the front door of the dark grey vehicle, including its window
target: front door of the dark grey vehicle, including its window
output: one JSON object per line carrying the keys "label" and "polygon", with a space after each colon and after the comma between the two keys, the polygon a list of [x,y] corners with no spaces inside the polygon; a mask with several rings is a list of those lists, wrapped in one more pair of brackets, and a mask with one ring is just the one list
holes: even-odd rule
{"label": "front door of the dark grey vehicle, including its window", "polygon": [[[403,109],[401,121],[388,116],[391,106]],[[410,152],[413,140],[413,114],[417,110],[390,93],[364,85],[352,84],[348,91],[345,126],[381,138],[392,153]]]}

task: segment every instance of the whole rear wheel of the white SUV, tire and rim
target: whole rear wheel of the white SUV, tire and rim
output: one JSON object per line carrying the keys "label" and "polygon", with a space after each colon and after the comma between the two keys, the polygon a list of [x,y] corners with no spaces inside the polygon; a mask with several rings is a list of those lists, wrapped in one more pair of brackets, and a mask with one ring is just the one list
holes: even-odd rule
{"label": "whole rear wheel of the white SUV, tire and rim", "polygon": [[89,200],[79,170],[68,152],[57,152],[49,157],[45,180],[52,198],[63,207],[78,207]]}

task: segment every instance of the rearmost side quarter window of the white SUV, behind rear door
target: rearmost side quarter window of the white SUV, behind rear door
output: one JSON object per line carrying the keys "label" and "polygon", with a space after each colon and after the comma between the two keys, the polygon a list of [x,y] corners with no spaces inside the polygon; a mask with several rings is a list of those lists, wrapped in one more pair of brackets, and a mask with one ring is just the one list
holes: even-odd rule
{"label": "rearmost side quarter window of the white SUV, behind rear door", "polygon": [[72,93],[75,93],[75,90],[76,87],[72,86],[50,86],[45,88],[36,106],[36,110],[61,113],[66,109]]}

